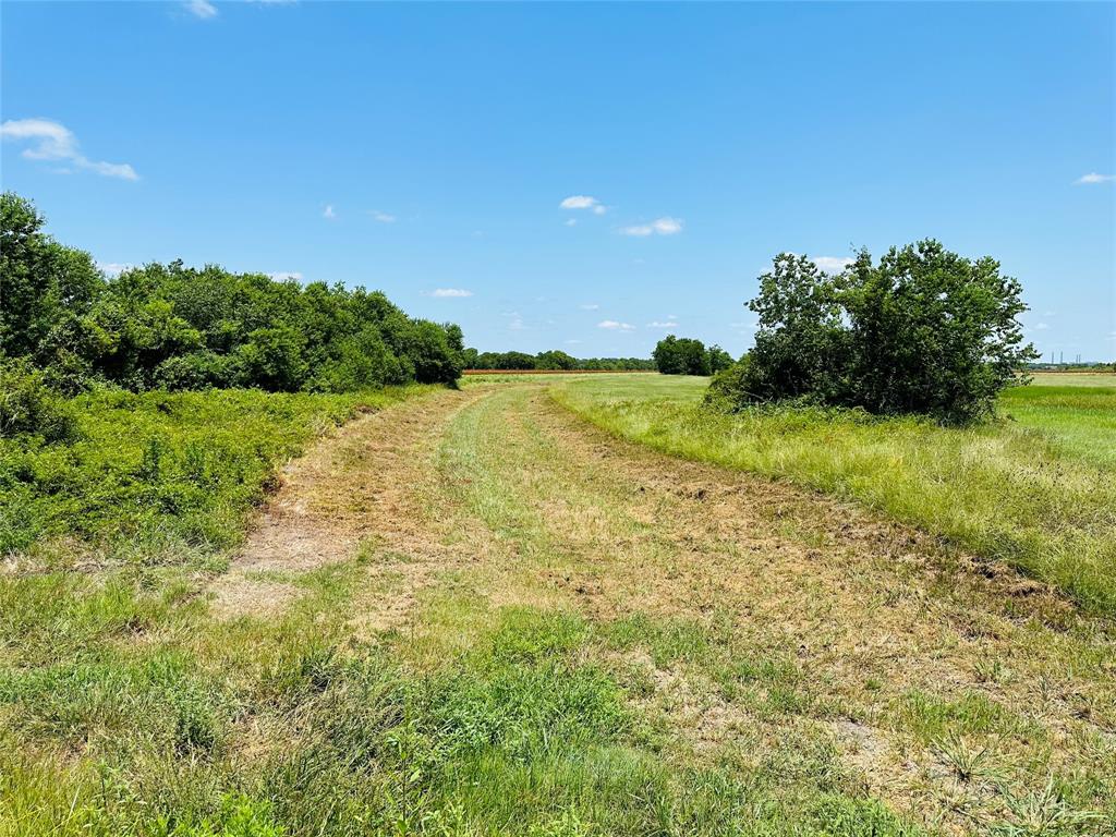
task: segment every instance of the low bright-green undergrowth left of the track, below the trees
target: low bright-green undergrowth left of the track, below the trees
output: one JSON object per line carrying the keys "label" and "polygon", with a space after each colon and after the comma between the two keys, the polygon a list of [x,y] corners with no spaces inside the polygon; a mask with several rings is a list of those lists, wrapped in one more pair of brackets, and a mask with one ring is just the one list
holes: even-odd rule
{"label": "low bright-green undergrowth left of the track, below the trees", "polygon": [[0,555],[60,539],[118,554],[227,548],[308,440],[421,389],[83,395],[73,442],[0,439]]}

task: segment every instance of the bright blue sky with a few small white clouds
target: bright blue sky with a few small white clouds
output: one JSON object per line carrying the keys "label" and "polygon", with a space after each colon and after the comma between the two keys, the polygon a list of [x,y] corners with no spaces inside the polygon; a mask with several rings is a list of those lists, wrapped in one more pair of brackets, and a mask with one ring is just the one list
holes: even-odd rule
{"label": "bright blue sky with a few small white clouds", "polygon": [[739,354],[775,253],[935,237],[1023,282],[1047,356],[1116,355],[1114,4],[4,2],[0,25],[3,187],[106,266],[365,285],[481,349]]}

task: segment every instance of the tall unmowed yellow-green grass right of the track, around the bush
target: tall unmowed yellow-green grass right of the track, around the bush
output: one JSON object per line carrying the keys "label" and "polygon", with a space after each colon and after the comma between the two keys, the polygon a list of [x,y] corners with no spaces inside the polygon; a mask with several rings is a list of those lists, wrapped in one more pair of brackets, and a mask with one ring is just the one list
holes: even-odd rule
{"label": "tall unmowed yellow-green grass right of the track, around the bush", "polygon": [[1001,421],[966,430],[822,411],[718,415],[699,406],[704,378],[554,392],[626,439],[856,500],[1116,615],[1116,385],[1051,379],[1062,381],[1009,389]]}

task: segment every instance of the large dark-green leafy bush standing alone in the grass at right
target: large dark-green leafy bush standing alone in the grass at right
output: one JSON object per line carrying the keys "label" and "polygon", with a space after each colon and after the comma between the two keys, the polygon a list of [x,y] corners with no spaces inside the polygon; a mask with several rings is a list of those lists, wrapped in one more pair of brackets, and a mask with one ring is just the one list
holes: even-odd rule
{"label": "large dark-green leafy bush standing alone in the grass at right", "polygon": [[892,248],[878,264],[862,251],[836,276],[780,253],[748,304],[756,346],[712,392],[738,406],[806,400],[954,424],[987,417],[1038,356],[1016,319],[1021,291],[995,260],[934,240]]}

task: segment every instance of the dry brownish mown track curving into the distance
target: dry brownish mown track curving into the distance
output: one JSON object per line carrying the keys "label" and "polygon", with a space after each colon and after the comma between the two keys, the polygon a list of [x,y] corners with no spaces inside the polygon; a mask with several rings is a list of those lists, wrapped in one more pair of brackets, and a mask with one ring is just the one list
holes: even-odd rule
{"label": "dry brownish mown track curving into the distance", "polygon": [[[664,758],[820,742],[868,791],[955,833],[1004,801],[958,775],[933,738],[939,715],[970,713],[974,731],[994,733],[1007,775],[1036,741],[1065,770],[1116,766],[1110,632],[852,506],[617,441],[542,384],[404,403],[325,441],[292,464],[214,588],[218,613],[273,612],[297,589],[271,574],[362,548],[369,578],[392,583],[369,583],[353,631],[440,637],[415,655],[468,647],[483,614],[507,606],[569,609],[595,625],[643,614],[704,626],[730,662],[780,661],[809,699],[759,712],[727,699],[701,663],[604,655],[618,677],[652,684],[632,701],[671,730]],[[479,608],[477,624],[446,627],[435,606],[446,597]]]}

